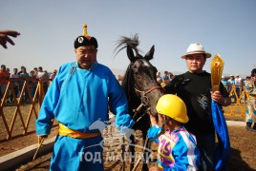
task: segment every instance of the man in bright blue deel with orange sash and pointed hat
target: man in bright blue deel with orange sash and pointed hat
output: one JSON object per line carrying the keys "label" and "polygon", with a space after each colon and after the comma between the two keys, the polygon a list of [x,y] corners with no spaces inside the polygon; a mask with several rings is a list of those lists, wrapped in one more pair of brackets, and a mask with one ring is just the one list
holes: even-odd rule
{"label": "man in bright blue deel with orange sash and pointed hat", "polygon": [[[39,140],[50,134],[52,119],[59,123],[50,170],[104,170],[100,131],[89,126],[116,115],[122,133],[134,124],[125,93],[115,75],[96,61],[97,41],[84,33],[75,39],[76,61],[60,66],[36,120]],[[109,106],[109,107],[108,107]]]}

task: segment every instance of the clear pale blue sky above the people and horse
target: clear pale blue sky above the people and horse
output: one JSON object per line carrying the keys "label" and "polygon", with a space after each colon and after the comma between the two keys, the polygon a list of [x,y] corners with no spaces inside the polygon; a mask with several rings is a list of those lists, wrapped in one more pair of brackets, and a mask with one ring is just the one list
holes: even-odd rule
{"label": "clear pale blue sky above the people and horse", "polygon": [[52,71],[73,62],[74,41],[86,23],[98,41],[97,61],[110,68],[126,69],[126,51],[115,57],[116,41],[138,33],[142,54],[155,45],[151,62],[160,71],[185,72],[181,55],[199,42],[223,57],[225,75],[248,75],[256,65],[255,9],[255,0],[1,0],[0,29],[21,35],[15,46],[0,47],[0,64]]}

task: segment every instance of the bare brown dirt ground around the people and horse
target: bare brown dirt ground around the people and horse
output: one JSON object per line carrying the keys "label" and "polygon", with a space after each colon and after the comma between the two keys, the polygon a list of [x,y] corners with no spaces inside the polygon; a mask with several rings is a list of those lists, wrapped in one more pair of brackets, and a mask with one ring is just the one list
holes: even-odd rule
{"label": "bare brown dirt ground around the people and horse", "polygon": [[[226,120],[244,122],[244,117],[225,116],[225,118]],[[56,132],[57,127],[53,127],[50,137],[55,136]],[[228,170],[256,170],[256,131],[246,131],[244,126],[228,126],[228,132],[232,148],[231,158],[228,163]],[[0,157],[18,149],[22,149],[36,142],[37,138],[34,132],[30,133],[27,136],[15,138],[11,141],[1,140]],[[157,153],[157,145],[153,143],[151,149],[154,151],[155,156],[155,154]],[[38,159],[33,162],[29,161],[27,163],[17,165],[13,168],[13,170],[48,170],[51,161],[51,155],[52,154],[49,153],[42,157],[38,157]],[[148,165],[150,166],[154,164],[155,163],[150,163]],[[120,170],[121,166],[121,162],[107,162],[105,163],[105,170]],[[129,168],[129,165],[127,163],[125,168],[125,170],[128,170]]]}

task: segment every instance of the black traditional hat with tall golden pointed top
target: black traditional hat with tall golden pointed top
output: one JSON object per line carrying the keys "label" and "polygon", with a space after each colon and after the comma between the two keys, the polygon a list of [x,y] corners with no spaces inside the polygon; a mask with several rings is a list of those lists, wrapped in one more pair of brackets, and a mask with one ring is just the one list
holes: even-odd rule
{"label": "black traditional hat with tall golden pointed top", "polygon": [[82,46],[95,46],[97,48],[97,41],[95,37],[91,37],[87,33],[87,25],[83,25],[83,35],[78,36],[75,39],[74,47],[82,47]]}

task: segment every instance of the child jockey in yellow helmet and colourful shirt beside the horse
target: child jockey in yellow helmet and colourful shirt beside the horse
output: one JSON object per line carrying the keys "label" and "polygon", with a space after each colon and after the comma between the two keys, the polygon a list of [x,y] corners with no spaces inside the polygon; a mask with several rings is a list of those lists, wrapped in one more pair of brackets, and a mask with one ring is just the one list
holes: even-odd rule
{"label": "child jockey in yellow helmet and colourful shirt beside the horse", "polygon": [[[159,143],[158,167],[149,170],[197,170],[200,166],[200,152],[195,136],[183,126],[183,123],[188,122],[185,104],[178,96],[166,94],[160,97],[156,108],[165,132],[155,140]],[[148,138],[156,137],[160,129],[158,124],[153,125],[148,130]]]}

